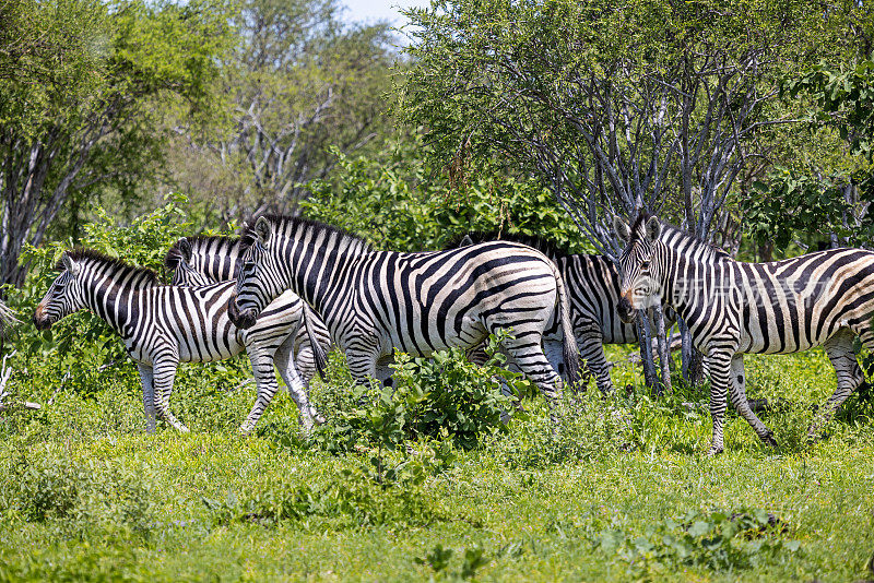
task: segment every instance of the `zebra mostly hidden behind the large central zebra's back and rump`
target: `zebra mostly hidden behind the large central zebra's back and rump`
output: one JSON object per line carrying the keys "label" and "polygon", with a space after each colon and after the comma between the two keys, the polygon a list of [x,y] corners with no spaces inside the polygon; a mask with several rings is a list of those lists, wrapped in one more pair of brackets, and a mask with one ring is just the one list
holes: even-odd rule
{"label": "zebra mostly hidden behind the large central zebra's back and rump", "polygon": [[[570,298],[570,322],[574,337],[586,365],[582,384],[588,384],[590,376],[594,376],[595,384],[602,393],[613,392],[610,379],[610,366],[604,356],[604,344],[638,343],[637,326],[623,322],[616,308],[619,305],[619,272],[615,263],[604,255],[577,254],[562,249],[552,241],[541,237],[530,237],[507,233],[472,233],[464,235],[460,241],[450,241],[447,248],[463,247],[482,241],[508,240],[520,242],[543,251],[558,266],[558,273],[565,282]],[[673,319],[665,313],[665,326],[673,324]],[[560,334],[544,336],[546,356],[559,372],[564,362],[554,360],[560,357],[563,342]]]}

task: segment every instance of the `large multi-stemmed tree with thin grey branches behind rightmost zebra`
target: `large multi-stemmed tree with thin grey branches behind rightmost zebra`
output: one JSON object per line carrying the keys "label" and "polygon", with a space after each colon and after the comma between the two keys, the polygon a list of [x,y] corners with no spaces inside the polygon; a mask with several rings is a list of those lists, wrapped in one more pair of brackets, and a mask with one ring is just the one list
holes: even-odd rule
{"label": "large multi-stemmed tree with thin grey branches behind rightmost zebra", "polygon": [[779,75],[832,26],[818,4],[766,0],[438,0],[409,15],[405,118],[437,152],[538,176],[614,260],[615,215],[661,211],[711,238],[757,138],[792,121],[770,115]]}

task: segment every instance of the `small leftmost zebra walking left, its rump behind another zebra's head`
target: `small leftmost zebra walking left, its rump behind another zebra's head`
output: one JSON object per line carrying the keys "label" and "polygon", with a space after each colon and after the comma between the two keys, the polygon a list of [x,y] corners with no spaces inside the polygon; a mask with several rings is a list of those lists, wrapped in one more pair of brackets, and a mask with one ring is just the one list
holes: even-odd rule
{"label": "small leftmost zebra walking left, its rump behind another zebra's head", "polygon": [[300,318],[290,317],[293,310],[282,298],[268,306],[253,326],[243,331],[227,314],[234,282],[200,287],[161,285],[152,270],[87,249],[64,252],[57,269],[61,273],[34,312],[36,328],[48,329],[84,308],[109,324],[140,369],[150,432],[155,429],[156,415],[188,431],[169,409],[180,361],[224,360],[244,349],[252,362],[258,397],[240,431],[250,431],[273,398],[279,388],[274,364],[285,383],[294,386],[292,395],[305,430],[310,429],[314,418],[319,419],[291,358]]}

